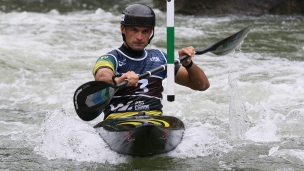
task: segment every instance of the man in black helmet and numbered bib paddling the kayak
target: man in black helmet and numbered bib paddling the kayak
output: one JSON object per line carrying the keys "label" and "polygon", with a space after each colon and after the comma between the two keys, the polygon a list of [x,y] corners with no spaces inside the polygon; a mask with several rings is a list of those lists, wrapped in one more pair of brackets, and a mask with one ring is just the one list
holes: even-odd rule
{"label": "man in black helmet and numbered bib paddling the kayak", "polygon": [[[122,12],[120,30],[123,44],[96,61],[93,74],[96,81],[119,84],[128,80],[128,86],[118,90],[104,110],[104,119],[128,117],[138,114],[162,114],[162,80],[167,71],[158,72],[147,79],[139,74],[167,63],[166,53],[145,49],[154,36],[155,13],[141,4],[132,4]],[[192,46],[178,51],[188,55],[182,65],[175,66],[175,82],[193,90],[204,91],[210,84],[205,73],[192,61]]]}

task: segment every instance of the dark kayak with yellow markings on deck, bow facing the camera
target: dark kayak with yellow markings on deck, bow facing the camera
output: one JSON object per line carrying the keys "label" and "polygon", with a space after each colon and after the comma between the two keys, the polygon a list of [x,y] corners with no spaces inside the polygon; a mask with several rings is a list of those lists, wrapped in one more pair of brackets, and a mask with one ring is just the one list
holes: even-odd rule
{"label": "dark kayak with yellow markings on deck, bow facing the camera", "polygon": [[182,141],[185,126],[173,116],[132,116],[104,120],[94,126],[117,153],[152,156],[167,153]]}

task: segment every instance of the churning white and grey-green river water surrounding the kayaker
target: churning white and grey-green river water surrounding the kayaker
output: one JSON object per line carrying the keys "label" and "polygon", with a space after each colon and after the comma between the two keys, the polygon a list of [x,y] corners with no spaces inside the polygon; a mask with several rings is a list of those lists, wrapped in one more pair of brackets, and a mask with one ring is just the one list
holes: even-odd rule
{"label": "churning white and grey-green river water surrounding the kayaker", "polygon": [[[166,14],[155,12],[148,48],[166,51]],[[185,123],[184,139],[144,158],[111,151],[92,127],[102,116],[84,122],[73,108],[96,59],[121,45],[119,19],[103,9],[0,13],[0,170],[304,169],[303,18],[176,16],[176,52],[252,30],[235,53],[195,56],[211,87],[174,87],[164,113]]]}

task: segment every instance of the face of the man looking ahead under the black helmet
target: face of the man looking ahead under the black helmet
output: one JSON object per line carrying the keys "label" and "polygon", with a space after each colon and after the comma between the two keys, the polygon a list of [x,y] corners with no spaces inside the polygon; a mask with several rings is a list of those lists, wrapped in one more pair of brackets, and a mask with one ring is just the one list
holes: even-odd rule
{"label": "face of the man looking ahead under the black helmet", "polygon": [[148,45],[153,28],[121,25],[121,32],[125,34],[126,42],[131,49],[141,51]]}

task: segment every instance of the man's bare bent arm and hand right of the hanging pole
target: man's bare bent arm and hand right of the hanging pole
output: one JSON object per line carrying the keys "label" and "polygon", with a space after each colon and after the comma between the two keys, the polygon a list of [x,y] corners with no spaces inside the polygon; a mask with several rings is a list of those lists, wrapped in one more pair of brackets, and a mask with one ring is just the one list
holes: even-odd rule
{"label": "man's bare bent arm and hand right of the hanging pole", "polygon": [[[182,66],[179,68],[176,76],[175,82],[177,84],[187,86],[193,90],[205,91],[210,87],[209,80],[202,71],[192,60],[194,56],[194,48],[192,46],[183,48],[179,51],[179,56],[188,55],[189,58],[186,59]],[[192,65],[191,65],[192,62]],[[191,66],[190,66],[191,65]],[[184,67],[186,66],[186,67]],[[190,66],[187,68],[187,66]]]}

